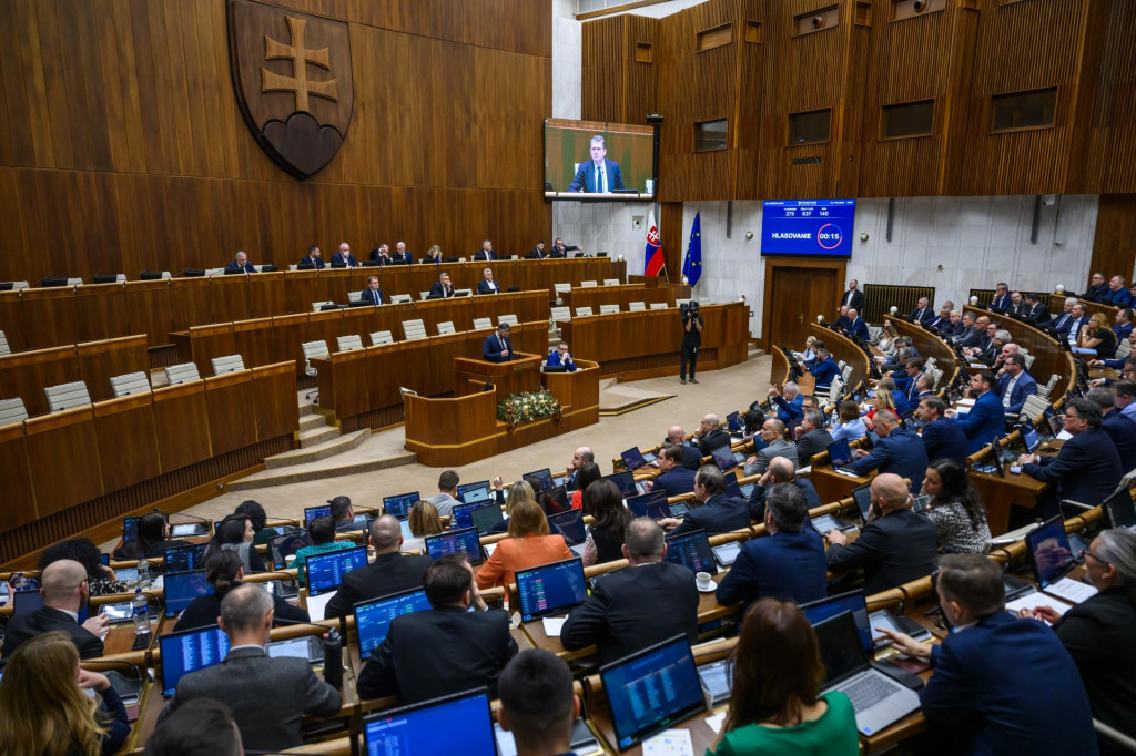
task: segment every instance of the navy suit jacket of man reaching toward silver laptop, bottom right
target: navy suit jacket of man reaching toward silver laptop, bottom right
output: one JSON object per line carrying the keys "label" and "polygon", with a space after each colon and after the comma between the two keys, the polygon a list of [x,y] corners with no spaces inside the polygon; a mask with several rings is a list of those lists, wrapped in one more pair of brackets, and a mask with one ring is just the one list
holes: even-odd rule
{"label": "navy suit jacket of man reaching toward silver laptop, bottom right", "polygon": [[930,654],[935,672],[919,694],[922,713],[932,726],[969,740],[961,753],[1096,753],[1077,666],[1041,622],[995,612]]}

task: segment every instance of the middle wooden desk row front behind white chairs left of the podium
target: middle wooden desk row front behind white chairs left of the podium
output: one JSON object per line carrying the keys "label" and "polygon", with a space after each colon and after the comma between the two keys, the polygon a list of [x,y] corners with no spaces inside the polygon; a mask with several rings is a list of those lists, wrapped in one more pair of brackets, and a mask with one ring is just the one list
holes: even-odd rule
{"label": "middle wooden desk row front behind white chairs left of the podium", "polygon": [[549,302],[544,292],[516,292],[498,296],[463,296],[409,304],[350,308],[326,312],[303,312],[275,318],[258,318],[194,326],[170,334],[177,344],[178,360],[193,362],[202,376],[212,375],[210,360],[240,354],[245,367],[295,360],[296,375],[304,375],[303,343],[321,341],[329,351],[339,348],[340,336],[359,336],[370,344],[370,334],[389,330],[395,342],[403,338],[402,321],[421,320],[427,334],[437,334],[437,324],[452,322],[459,331],[473,328],[474,318],[490,318],[495,326],[502,314],[515,314],[520,322],[543,321],[548,330]]}

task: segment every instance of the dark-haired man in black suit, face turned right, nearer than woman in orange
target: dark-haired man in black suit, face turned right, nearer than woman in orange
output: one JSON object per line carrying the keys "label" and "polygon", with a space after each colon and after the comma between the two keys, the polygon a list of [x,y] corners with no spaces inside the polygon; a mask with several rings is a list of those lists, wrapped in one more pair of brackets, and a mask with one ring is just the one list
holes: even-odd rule
{"label": "dark-haired man in black suit, face turned right, nearer than woman in orange", "polygon": [[463,554],[431,564],[423,587],[431,610],[391,622],[359,673],[359,697],[415,704],[482,686],[495,696],[498,674],[517,653],[509,615],[485,605]]}

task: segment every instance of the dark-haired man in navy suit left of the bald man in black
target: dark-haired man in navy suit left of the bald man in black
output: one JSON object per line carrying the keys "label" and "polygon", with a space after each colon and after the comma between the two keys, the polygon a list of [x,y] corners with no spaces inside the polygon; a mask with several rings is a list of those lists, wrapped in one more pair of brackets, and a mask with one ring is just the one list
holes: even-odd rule
{"label": "dark-haired man in navy suit left of the bald man in black", "polygon": [[815,602],[828,593],[825,543],[804,522],[809,504],[792,484],[778,484],[766,496],[762,521],[768,538],[742,546],[715,593],[719,604],[742,602],[741,615],[759,598]]}

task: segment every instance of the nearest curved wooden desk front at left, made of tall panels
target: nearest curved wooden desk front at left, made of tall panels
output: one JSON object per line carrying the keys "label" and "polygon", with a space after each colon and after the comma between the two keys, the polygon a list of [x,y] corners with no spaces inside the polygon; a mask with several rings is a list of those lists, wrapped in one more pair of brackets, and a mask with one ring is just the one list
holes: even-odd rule
{"label": "nearest curved wooden desk front at left, made of tall panels", "polygon": [[0,427],[0,563],[100,524],[109,538],[125,514],[203,501],[214,481],[292,448],[294,370],[242,370]]}

